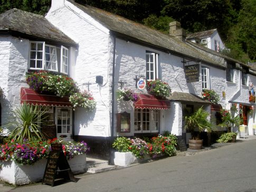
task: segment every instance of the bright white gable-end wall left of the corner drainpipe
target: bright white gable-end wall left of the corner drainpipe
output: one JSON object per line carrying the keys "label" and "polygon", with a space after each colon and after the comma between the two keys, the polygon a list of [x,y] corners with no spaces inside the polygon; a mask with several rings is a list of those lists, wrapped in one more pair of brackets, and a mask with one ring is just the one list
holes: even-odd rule
{"label": "bright white gable-end wall left of the corner drainpipe", "polygon": [[[53,1],[54,2],[54,1]],[[52,7],[46,15],[53,25],[79,44],[76,58],[71,63],[71,77],[81,90],[88,90],[97,102],[94,112],[75,109],[74,134],[88,136],[110,135],[109,31],[70,2]],[[96,84],[96,76],[103,76],[103,86]]]}

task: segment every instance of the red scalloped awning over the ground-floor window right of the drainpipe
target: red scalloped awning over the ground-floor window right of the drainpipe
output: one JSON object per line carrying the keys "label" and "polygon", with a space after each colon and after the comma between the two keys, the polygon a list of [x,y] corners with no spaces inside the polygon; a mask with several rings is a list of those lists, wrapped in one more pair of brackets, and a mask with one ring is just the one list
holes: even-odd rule
{"label": "red scalloped awning over the ground-floor window right of the drainpipe", "polygon": [[156,98],[153,95],[138,94],[138,99],[134,103],[136,109],[170,109],[170,101]]}

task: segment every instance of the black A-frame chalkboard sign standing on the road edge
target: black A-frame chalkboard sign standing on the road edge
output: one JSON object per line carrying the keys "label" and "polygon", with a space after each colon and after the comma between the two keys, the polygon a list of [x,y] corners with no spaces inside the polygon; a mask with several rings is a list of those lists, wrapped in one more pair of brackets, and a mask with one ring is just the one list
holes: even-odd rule
{"label": "black A-frame chalkboard sign standing on the road edge", "polygon": [[62,176],[64,179],[76,182],[68,160],[62,151],[62,144],[51,144],[51,149],[46,163],[42,184],[48,184],[53,187],[57,175]]}

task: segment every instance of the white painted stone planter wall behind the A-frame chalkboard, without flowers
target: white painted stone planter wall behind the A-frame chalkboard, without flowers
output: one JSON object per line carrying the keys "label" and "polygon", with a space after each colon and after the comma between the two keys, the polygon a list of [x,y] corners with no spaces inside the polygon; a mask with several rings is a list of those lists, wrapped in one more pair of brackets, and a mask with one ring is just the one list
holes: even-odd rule
{"label": "white painted stone planter wall behind the A-frame chalkboard, without flowers", "polygon": [[[13,185],[25,185],[42,181],[47,159],[40,159],[34,165],[18,165],[14,161],[1,161],[0,179]],[[68,160],[73,174],[86,172],[86,154]]]}

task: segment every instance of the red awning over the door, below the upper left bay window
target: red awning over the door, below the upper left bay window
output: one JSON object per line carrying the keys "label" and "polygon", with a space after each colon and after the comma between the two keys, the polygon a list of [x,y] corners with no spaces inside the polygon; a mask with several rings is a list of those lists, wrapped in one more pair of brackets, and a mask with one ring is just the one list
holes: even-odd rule
{"label": "red awning over the door, below the upper left bay window", "polygon": [[32,105],[72,107],[69,97],[58,97],[54,95],[41,95],[30,88],[21,88],[21,104],[26,102]]}

